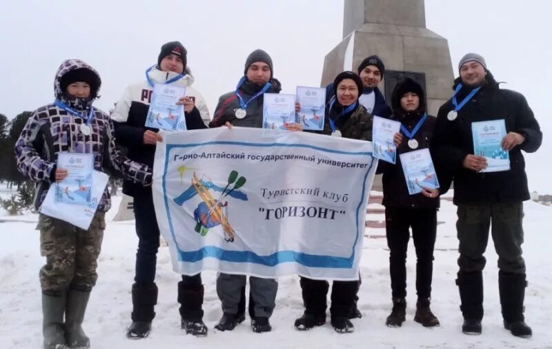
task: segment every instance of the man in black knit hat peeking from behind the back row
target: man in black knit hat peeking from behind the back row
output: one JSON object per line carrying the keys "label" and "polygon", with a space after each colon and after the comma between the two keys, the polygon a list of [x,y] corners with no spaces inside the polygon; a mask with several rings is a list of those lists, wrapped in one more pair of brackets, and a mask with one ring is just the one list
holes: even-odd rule
{"label": "man in black knit hat peeking from behind the back row", "polygon": [[[363,85],[362,94],[359,97],[360,104],[371,115],[390,117],[391,108],[386,103],[380,88],[377,88],[385,74],[385,65],[382,59],[377,55],[364,58],[358,66],[357,73],[360,75]],[[333,83],[326,87],[326,100],[330,100],[333,96],[333,88]]]}

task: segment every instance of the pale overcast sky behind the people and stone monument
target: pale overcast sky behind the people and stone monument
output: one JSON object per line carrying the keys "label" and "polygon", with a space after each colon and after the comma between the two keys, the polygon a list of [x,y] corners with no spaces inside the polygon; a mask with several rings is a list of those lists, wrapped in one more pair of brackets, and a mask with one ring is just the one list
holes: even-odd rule
{"label": "pale overcast sky behind the people and stone monument", "polygon": [[[99,71],[95,105],[108,111],[173,40],[187,48],[194,87],[211,114],[255,48],[272,57],[283,93],[319,86],[324,56],[342,41],[343,8],[342,0],[6,1],[0,113],[12,118],[52,102],[55,72],[68,58]],[[449,40],[453,66],[464,53],[480,53],[497,80],[508,82],[504,88],[529,101],[544,142],[526,155],[527,172],[530,189],[541,194],[552,194],[551,10],[544,0],[426,0],[427,27]]]}

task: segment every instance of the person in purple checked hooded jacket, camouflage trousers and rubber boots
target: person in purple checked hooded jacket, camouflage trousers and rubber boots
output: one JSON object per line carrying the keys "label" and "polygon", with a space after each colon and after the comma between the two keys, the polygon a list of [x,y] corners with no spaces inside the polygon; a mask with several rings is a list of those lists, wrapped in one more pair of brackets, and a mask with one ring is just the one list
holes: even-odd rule
{"label": "person in purple checked hooded jacket, camouflage trousers and rubber boots", "polygon": [[[59,67],[54,86],[55,102],[32,113],[14,149],[17,169],[37,182],[34,207],[39,209],[52,183],[68,175],[66,169],[57,168],[60,152],[92,153],[97,171],[150,185],[151,169],[117,150],[110,117],[92,107],[101,86],[97,71],[68,59]],[[41,254],[46,257],[39,274],[44,348],[90,346],[81,325],[98,277],[97,258],[110,206],[106,188],[88,230],[39,216]]]}

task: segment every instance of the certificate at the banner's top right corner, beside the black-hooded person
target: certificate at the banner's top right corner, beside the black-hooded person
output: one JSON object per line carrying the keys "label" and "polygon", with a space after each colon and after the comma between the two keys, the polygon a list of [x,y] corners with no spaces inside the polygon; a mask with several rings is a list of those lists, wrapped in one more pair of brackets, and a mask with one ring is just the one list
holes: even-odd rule
{"label": "certificate at the banner's top right corner, beside the black-hooded person", "polygon": [[374,115],[372,126],[372,155],[374,158],[391,162],[397,162],[397,147],[393,142],[393,136],[401,129],[401,123]]}

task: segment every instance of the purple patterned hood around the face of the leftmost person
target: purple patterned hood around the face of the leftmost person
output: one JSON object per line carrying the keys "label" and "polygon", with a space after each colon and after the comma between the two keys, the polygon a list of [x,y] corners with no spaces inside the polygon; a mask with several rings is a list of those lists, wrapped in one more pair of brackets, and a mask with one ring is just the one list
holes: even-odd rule
{"label": "purple patterned hood around the face of the leftmost person", "polygon": [[[70,100],[68,96],[66,95],[66,91],[62,91],[61,89],[61,78],[69,73],[70,71],[77,70],[77,69],[86,69],[89,70],[89,73],[92,74],[92,77],[94,78],[94,83],[90,86],[90,97],[89,98],[75,98]],[[101,87],[101,79],[99,77],[98,72],[92,68],[89,64],[86,64],[86,62],[81,61],[81,59],[67,59],[66,61],[63,61],[59,68],[57,69],[57,73],[54,79],[54,95],[57,100],[60,100],[61,102],[65,103],[66,105],[70,106],[71,108],[80,110],[80,111],[86,111],[87,109],[92,106],[92,102],[97,98],[99,94],[99,89]]]}

